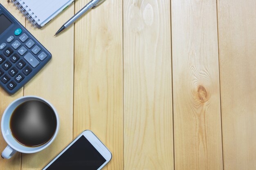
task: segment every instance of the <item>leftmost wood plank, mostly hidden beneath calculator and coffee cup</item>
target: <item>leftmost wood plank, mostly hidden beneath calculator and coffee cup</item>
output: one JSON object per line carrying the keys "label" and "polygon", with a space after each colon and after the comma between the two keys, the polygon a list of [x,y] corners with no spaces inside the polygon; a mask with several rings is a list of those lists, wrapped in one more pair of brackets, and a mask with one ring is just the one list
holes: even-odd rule
{"label": "leftmost wood plank, mostly hidden beneath calculator and coffee cup", "polygon": [[[10,3],[10,2],[8,3],[7,0],[0,0],[0,3],[5,8],[7,8],[7,10],[16,19],[18,19],[18,21],[21,24],[25,25],[25,18],[22,17],[20,11],[16,10],[16,8],[13,7],[12,3]],[[18,99],[19,97],[22,97],[22,96],[23,96],[23,88],[11,96],[9,94],[7,94],[2,88],[0,88],[0,117],[2,118],[2,114],[4,113],[5,108],[7,108],[7,106],[11,102],[13,102],[13,100]],[[0,132],[0,153],[1,154],[6,146],[7,146],[7,144],[2,137],[2,133]],[[0,170],[20,170],[20,163],[21,163],[20,155],[21,155],[20,153],[16,153],[16,155],[14,155],[9,160],[0,158]]]}

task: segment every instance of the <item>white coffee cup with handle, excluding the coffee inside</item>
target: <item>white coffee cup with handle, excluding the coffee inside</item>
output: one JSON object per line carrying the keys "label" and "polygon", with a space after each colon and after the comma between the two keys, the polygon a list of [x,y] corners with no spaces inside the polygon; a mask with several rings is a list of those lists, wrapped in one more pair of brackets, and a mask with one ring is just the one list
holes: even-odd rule
{"label": "white coffee cup with handle, excluding the coffee inside", "polygon": [[[45,102],[46,104],[48,104],[52,108],[52,110],[54,111],[54,113],[56,115],[56,120],[57,120],[56,130],[54,132],[54,135],[53,135],[52,139],[50,139],[47,143],[45,143],[41,146],[38,146],[38,147],[27,147],[27,146],[24,146],[24,145],[20,144],[18,141],[16,141],[16,139],[14,139],[14,137],[11,134],[11,130],[10,130],[10,119],[11,119],[11,115],[12,115],[13,111],[20,104],[22,104],[24,102],[27,102],[27,101],[30,101],[30,100],[37,100],[37,101]],[[47,148],[50,144],[52,144],[52,142],[54,141],[54,139],[56,138],[56,136],[58,134],[58,130],[59,130],[58,113],[57,113],[56,109],[54,108],[54,106],[52,106],[52,104],[50,104],[47,100],[45,100],[41,97],[37,97],[37,96],[21,97],[19,99],[16,99],[15,101],[13,101],[5,109],[4,114],[2,116],[2,121],[1,121],[1,130],[2,130],[2,135],[4,137],[4,140],[8,144],[8,146],[2,152],[2,157],[3,158],[10,159],[16,152],[22,152],[22,153],[39,152],[39,151]]]}

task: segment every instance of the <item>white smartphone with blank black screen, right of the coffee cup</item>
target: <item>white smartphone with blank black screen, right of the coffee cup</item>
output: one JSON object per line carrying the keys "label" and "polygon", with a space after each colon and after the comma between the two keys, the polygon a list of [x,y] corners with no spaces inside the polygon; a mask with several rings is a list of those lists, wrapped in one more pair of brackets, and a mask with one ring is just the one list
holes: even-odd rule
{"label": "white smartphone with blank black screen, right of the coffee cup", "polygon": [[43,170],[101,170],[111,152],[90,130],[82,132]]}

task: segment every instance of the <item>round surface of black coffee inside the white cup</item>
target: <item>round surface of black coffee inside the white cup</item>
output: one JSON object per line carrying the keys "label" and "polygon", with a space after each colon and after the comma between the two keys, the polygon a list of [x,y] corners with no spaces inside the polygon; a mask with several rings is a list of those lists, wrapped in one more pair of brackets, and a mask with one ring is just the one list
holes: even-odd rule
{"label": "round surface of black coffee inside the white cup", "polygon": [[48,104],[36,100],[20,104],[11,115],[13,137],[29,147],[47,143],[52,139],[56,126],[54,110]]}

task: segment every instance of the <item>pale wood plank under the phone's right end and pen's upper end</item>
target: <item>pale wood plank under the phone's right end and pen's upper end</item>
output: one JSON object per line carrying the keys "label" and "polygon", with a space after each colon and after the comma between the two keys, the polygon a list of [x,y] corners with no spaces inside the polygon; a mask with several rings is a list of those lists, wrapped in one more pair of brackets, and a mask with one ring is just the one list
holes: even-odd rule
{"label": "pale wood plank under the phone's right end and pen's upper end", "polygon": [[[76,2],[79,11],[89,0]],[[75,24],[74,138],[90,129],[123,169],[122,1],[107,0]]]}

